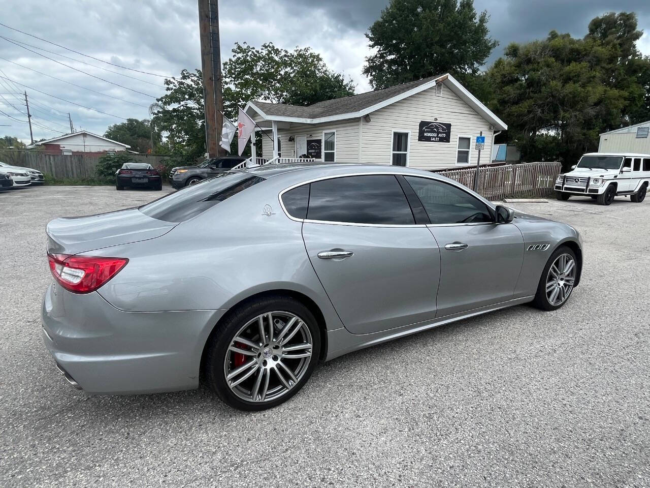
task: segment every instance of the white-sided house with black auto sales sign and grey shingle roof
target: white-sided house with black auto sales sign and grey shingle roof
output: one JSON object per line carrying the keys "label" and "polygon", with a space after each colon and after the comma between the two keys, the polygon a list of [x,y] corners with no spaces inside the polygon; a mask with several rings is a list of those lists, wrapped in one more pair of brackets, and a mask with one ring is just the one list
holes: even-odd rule
{"label": "white-sided house with black auto sales sign and grey shingle roof", "polygon": [[270,136],[262,137],[266,159],[306,154],[419,169],[473,165],[482,133],[481,162],[489,163],[494,135],[508,128],[449,74],[309,107],[250,102],[244,110]]}

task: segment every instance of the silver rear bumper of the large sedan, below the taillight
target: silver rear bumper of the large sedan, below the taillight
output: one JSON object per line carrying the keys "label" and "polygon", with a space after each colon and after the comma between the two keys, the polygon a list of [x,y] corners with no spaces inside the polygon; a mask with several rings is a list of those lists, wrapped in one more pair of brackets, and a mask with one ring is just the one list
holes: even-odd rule
{"label": "silver rear bumper of the large sedan, below the taillight", "polygon": [[66,379],[90,394],[186,390],[199,385],[203,346],[224,312],[123,312],[96,292],[50,285],[42,337]]}

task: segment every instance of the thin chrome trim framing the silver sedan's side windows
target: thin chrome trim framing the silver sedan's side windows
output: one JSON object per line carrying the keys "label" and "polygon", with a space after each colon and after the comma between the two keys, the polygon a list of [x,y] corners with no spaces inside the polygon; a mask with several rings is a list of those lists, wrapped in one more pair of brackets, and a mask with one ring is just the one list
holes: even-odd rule
{"label": "thin chrome trim framing the silver sedan's side windows", "polygon": [[[455,186],[456,188],[460,189],[461,191],[464,191],[471,197],[476,198],[476,196],[473,195],[472,193],[469,193],[467,189],[463,187],[463,185],[461,185],[460,183],[454,180],[449,180],[447,182],[445,180],[441,180],[441,178],[435,178],[435,176],[428,176],[426,174],[410,174],[410,173],[400,173],[394,171],[393,172],[373,171],[373,172],[361,172],[361,173],[356,172],[350,174],[335,174],[335,175],[328,175],[328,176],[320,176],[318,178],[313,178],[311,180],[305,180],[304,182],[301,183],[294,183],[293,185],[283,189],[278,193],[279,204],[284,214],[287,217],[289,217],[289,219],[291,219],[292,221],[310,223],[310,224],[333,224],[333,225],[349,225],[353,227],[389,227],[389,228],[391,227],[442,227],[442,226],[448,227],[448,226],[464,226],[464,225],[500,225],[494,222],[477,222],[477,223],[462,223],[462,224],[364,224],[364,223],[355,223],[355,222],[334,222],[334,221],[317,221],[313,219],[298,219],[298,217],[293,217],[291,214],[289,214],[289,211],[287,211],[287,208],[285,208],[284,202],[282,201],[282,195],[287,193],[287,191],[290,191],[302,185],[308,185],[323,180],[332,180],[333,178],[347,178],[348,176],[374,176],[378,174],[389,174],[392,176],[414,176],[415,178],[425,178],[427,180],[434,180],[435,182],[441,182],[441,183],[446,183],[447,185]],[[495,210],[495,206],[493,206],[492,202],[490,202],[486,198],[483,198],[480,195],[478,195],[478,199],[482,201],[484,204],[486,204],[489,208],[491,208],[491,210]],[[408,202],[408,198],[406,199],[406,201]]]}

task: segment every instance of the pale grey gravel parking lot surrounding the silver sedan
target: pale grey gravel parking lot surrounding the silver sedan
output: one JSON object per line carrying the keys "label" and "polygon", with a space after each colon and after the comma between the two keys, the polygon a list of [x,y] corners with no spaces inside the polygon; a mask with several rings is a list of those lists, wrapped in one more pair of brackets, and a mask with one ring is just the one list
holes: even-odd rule
{"label": "pale grey gravel parking lot surrounding the silver sedan", "polygon": [[[165,189],[164,191],[170,191]],[[158,191],[0,193],[3,487],[650,486],[650,202],[512,204],[582,233],[582,283],[318,366],[241,413],[201,388],[89,397],[40,339],[47,221]]]}

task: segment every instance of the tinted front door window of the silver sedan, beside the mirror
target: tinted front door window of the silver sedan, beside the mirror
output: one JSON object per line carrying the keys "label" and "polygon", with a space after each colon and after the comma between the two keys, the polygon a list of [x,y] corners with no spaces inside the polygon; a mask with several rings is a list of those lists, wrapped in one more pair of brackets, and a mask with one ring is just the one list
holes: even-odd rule
{"label": "tinted front door window of the silver sedan, beside the mirror", "polygon": [[420,198],[432,224],[492,222],[487,205],[448,183],[404,176]]}

